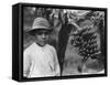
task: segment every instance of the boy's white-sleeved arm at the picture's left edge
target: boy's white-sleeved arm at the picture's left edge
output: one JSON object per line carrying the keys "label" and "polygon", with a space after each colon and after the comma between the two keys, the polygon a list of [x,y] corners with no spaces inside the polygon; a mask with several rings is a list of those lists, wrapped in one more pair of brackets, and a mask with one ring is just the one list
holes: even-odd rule
{"label": "boy's white-sleeved arm at the picture's left edge", "polygon": [[30,59],[29,59],[29,54],[26,51],[24,51],[23,54],[23,76],[28,77],[29,73],[30,73]]}

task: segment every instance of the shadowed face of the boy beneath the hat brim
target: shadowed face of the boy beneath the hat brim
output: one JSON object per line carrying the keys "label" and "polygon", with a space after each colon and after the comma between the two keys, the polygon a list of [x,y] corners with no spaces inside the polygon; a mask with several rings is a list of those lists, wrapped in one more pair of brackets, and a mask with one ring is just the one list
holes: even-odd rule
{"label": "shadowed face of the boy beneath the hat brim", "polygon": [[38,45],[44,46],[48,41],[50,32],[47,30],[40,30],[35,34],[35,41]]}

